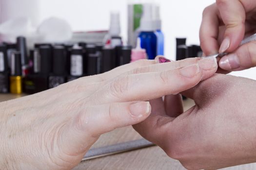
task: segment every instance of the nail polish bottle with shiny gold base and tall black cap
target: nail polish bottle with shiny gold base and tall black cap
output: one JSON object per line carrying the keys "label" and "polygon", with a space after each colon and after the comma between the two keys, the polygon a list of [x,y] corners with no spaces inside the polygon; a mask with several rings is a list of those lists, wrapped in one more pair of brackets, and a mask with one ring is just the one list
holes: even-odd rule
{"label": "nail polish bottle with shiny gold base and tall black cap", "polygon": [[13,94],[22,93],[21,53],[19,51],[12,53],[10,91]]}

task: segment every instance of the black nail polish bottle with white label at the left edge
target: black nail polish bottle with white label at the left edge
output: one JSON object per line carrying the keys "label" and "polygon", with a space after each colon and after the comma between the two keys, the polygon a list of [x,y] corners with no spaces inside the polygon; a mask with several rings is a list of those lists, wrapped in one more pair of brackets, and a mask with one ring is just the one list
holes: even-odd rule
{"label": "black nail polish bottle with white label at the left edge", "polygon": [[7,58],[7,47],[4,44],[0,44],[0,93],[9,92],[9,68]]}

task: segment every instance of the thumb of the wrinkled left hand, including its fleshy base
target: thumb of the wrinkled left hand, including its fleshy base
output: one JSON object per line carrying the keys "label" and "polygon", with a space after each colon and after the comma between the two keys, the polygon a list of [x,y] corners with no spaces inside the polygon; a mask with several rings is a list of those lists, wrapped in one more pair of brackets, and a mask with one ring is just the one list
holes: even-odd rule
{"label": "thumb of the wrinkled left hand, including its fleshy base", "polygon": [[61,133],[60,147],[69,155],[83,155],[101,134],[137,124],[151,113],[149,102],[121,102],[79,109]]}

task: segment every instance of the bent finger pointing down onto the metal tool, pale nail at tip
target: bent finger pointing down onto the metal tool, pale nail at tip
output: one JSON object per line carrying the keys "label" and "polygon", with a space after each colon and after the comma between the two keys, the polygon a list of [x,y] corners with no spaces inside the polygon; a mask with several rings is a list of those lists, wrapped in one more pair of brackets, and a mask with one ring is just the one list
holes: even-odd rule
{"label": "bent finger pointing down onto the metal tool, pale nail at tip", "polygon": [[220,17],[226,26],[219,52],[232,52],[245,34],[245,9],[240,0],[217,0]]}

